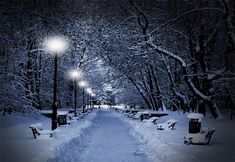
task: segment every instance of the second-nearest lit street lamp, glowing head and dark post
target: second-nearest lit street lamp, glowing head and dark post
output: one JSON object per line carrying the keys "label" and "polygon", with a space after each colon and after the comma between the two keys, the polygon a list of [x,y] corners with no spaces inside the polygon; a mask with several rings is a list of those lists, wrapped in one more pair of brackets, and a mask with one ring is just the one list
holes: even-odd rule
{"label": "second-nearest lit street lamp, glowing head and dark post", "polygon": [[82,73],[78,70],[70,71],[70,77],[74,80],[74,116],[77,116],[77,80]]}

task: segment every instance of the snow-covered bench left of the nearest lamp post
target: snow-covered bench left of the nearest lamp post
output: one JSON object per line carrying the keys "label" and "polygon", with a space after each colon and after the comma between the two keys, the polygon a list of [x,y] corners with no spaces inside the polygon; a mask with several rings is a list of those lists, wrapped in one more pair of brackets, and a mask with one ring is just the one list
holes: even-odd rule
{"label": "snow-covered bench left of the nearest lamp post", "polygon": [[33,137],[35,139],[40,135],[49,135],[50,137],[53,135],[51,130],[44,130],[41,123],[32,124],[29,126],[29,128],[32,130]]}

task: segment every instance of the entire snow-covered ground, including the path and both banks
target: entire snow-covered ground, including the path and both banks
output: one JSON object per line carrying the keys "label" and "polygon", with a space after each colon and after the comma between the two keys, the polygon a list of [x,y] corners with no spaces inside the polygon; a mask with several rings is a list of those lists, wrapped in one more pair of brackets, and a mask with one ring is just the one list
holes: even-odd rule
{"label": "entire snow-covered ground, including the path and both banks", "polygon": [[152,162],[233,162],[235,161],[234,120],[205,118],[215,128],[210,145],[185,145],[187,114],[169,112],[158,119],[175,119],[175,130],[157,130],[156,125],[127,118],[114,110],[93,110],[84,119],[59,127],[50,138],[34,139],[29,126],[42,123],[43,116],[22,114],[0,116],[0,161],[152,161]]}

